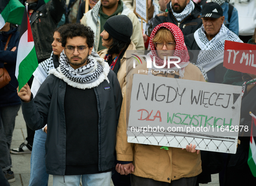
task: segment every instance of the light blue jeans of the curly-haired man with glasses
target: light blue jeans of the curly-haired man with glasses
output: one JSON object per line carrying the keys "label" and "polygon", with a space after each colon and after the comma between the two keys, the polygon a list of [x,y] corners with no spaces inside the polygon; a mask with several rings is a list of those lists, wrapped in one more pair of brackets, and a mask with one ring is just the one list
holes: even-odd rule
{"label": "light blue jeans of the curly-haired man with glasses", "polygon": [[53,175],[53,186],[79,186],[81,177],[83,186],[110,186],[111,171],[107,173],[71,176]]}

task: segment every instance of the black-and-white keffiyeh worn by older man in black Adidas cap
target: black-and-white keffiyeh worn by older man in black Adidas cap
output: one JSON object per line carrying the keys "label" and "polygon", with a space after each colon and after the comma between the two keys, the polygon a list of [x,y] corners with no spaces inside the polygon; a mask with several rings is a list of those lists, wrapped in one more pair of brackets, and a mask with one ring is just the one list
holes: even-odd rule
{"label": "black-and-white keffiyeh worn by older man in black Adidas cap", "polygon": [[220,32],[211,41],[205,35],[204,25],[194,32],[194,39],[201,49],[196,64],[202,66],[205,72],[223,62],[225,40],[243,42],[224,24],[222,24]]}

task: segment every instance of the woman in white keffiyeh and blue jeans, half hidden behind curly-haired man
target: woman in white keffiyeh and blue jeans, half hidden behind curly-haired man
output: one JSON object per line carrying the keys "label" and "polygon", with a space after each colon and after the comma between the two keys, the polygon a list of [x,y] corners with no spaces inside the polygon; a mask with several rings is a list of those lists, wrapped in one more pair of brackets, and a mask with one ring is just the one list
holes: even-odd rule
{"label": "woman in white keffiyeh and blue jeans, half hidden behind curly-haired man", "polygon": [[[31,92],[34,96],[42,85],[44,80],[49,76],[50,69],[56,69],[60,62],[59,57],[63,50],[62,39],[60,33],[65,30],[65,25],[55,29],[52,41],[51,57],[39,64],[33,73],[34,79],[31,86]],[[30,160],[30,180],[29,186],[47,186],[49,174],[46,173],[45,167],[45,140],[47,133],[47,125],[36,130],[33,142],[33,148]]]}

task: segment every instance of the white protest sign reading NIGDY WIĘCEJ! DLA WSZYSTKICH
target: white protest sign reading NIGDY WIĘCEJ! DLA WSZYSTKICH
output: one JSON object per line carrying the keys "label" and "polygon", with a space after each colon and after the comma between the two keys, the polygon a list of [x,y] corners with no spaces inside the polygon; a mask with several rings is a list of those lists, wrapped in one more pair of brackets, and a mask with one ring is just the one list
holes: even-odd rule
{"label": "white protest sign reading NIGDY WI\u0118CEJ! DLA WSZYSTKICH", "polygon": [[236,153],[241,87],[133,75],[128,142]]}

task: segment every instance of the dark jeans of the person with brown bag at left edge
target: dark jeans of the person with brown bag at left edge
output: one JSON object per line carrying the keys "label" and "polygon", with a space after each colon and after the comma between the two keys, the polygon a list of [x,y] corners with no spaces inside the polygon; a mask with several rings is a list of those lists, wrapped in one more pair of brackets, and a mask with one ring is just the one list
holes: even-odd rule
{"label": "dark jeans of the person with brown bag at left edge", "polygon": [[20,104],[0,107],[0,167],[3,171],[13,167],[10,156],[10,147],[13,138],[15,118],[19,108]]}

